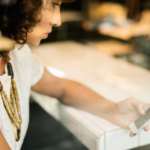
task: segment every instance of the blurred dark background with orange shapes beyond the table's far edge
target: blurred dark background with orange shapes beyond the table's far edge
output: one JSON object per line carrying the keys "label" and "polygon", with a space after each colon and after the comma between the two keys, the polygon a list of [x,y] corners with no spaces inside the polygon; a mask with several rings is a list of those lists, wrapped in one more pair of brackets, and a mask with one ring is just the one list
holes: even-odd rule
{"label": "blurred dark background with orange shapes beyond the table's far edge", "polygon": [[150,0],[76,0],[46,42],[74,40],[150,69]]}

